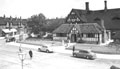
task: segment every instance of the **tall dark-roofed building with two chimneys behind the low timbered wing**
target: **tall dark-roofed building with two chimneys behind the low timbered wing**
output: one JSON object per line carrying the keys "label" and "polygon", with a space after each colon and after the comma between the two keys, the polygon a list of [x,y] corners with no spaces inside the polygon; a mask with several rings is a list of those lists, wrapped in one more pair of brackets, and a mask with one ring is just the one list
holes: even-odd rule
{"label": "tall dark-roofed building with two chimneys behind the low timbered wing", "polygon": [[[101,21],[104,21],[106,30],[111,31],[111,36],[116,31],[120,30],[120,8],[108,9],[107,1],[104,1],[104,9],[102,10],[90,10],[89,2],[86,2],[86,9],[72,9],[68,14],[65,23],[80,24],[80,23],[98,23],[101,25]],[[112,37],[111,37],[112,38]]]}

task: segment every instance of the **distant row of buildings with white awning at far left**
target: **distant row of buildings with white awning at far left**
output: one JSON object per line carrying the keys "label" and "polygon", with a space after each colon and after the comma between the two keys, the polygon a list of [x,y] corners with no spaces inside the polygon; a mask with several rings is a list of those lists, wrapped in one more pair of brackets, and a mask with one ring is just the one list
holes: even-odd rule
{"label": "distant row of buildings with white awning at far left", "polygon": [[5,17],[5,15],[0,17],[1,37],[15,37],[15,35],[25,33],[25,24],[26,20],[21,18]]}

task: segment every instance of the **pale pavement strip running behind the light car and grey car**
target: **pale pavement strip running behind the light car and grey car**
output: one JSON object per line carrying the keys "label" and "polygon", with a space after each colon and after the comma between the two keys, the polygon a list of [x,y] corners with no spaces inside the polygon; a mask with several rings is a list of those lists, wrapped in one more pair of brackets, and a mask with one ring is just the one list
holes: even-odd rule
{"label": "pale pavement strip running behind the light car and grey car", "polygon": [[[6,43],[8,45],[13,45],[13,46],[20,46],[21,47],[25,47],[25,48],[31,48],[31,49],[35,49],[37,51],[39,46],[36,45],[30,45],[30,44],[21,44],[21,43],[16,43],[16,42],[9,42]],[[64,53],[64,54],[70,54],[72,55],[72,51],[71,50],[66,50],[65,46],[54,46],[54,51],[57,53]],[[101,59],[120,59],[120,55],[114,55],[114,54],[98,54],[96,53],[97,58],[101,58]]]}

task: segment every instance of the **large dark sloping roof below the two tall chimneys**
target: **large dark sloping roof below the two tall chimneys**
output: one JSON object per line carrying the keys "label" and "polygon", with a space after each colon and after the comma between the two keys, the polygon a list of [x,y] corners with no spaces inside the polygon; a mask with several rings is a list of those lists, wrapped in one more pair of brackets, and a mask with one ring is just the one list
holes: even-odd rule
{"label": "large dark sloping roof below the two tall chimneys", "polygon": [[120,29],[120,8],[105,10],[72,9],[86,23],[101,23],[104,20],[106,29]]}

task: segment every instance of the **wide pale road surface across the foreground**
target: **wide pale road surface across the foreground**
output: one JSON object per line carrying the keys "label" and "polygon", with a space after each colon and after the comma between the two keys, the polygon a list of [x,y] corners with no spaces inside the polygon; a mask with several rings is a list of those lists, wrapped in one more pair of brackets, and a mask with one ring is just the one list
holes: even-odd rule
{"label": "wide pale road surface across the foreground", "polygon": [[[120,60],[95,59],[87,60],[72,57],[65,53],[44,53],[33,49],[33,59],[30,60],[28,51],[31,48],[23,48],[26,53],[24,69],[109,69],[111,65],[119,66]],[[0,45],[0,69],[21,69],[18,56],[18,47],[1,43]]]}

